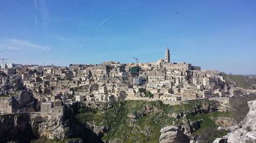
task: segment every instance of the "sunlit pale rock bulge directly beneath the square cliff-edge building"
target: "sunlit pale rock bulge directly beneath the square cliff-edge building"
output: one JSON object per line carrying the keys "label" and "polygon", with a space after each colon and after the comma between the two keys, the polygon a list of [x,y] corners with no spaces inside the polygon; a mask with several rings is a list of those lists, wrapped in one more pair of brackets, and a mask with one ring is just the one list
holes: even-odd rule
{"label": "sunlit pale rock bulge directly beneath the square cliff-edge building", "polygon": [[63,115],[36,117],[32,119],[31,126],[40,137],[61,140],[69,138],[72,131],[64,124]]}

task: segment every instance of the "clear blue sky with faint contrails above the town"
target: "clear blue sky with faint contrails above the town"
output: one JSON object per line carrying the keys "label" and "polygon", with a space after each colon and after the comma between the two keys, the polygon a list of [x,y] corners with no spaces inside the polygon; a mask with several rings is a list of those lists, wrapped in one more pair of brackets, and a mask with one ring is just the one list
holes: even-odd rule
{"label": "clear blue sky with faint contrails above the town", "polygon": [[256,74],[256,1],[0,1],[7,63],[154,62],[167,45],[172,62]]}

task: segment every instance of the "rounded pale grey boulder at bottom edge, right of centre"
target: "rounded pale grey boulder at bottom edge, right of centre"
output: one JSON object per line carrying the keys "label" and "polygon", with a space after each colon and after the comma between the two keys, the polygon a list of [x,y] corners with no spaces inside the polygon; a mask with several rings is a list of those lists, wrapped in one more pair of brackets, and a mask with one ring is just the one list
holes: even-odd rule
{"label": "rounded pale grey boulder at bottom edge, right of centre", "polygon": [[167,126],[161,129],[160,143],[186,143],[189,142],[186,136],[178,127]]}

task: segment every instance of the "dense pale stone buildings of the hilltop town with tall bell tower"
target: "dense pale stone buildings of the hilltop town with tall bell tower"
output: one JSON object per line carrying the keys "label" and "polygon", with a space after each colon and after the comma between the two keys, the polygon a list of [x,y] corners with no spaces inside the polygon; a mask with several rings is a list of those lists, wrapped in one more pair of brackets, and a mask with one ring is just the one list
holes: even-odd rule
{"label": "dense pale stone buildings of the hilltop town with tall bell tower", "polygon": [[60,115],[65,105],[75,102],[162,100],[175,105],[248,94],[225,82],[219,71],[170,61],[168,48],[164,60],[148,63],[106,61],[69,67],[6,64],[0,79],[1,113]]}

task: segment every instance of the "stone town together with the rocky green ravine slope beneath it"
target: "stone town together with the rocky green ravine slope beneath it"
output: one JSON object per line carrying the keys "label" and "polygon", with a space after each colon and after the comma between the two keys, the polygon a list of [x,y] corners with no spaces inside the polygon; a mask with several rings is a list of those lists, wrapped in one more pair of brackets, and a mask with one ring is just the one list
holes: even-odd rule
{"label": "stone town together with the rocky green ravine slope beneath it", "polygon": [[236,135],[228,132],[254,131],[244,126],[255,116],[246,116],[256,99],[254,77],[174,63],[168,48],[164,60],[134,59],[5,64],[0,142],[223,142]]}

